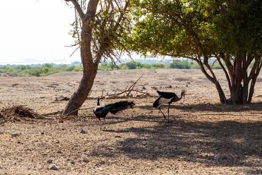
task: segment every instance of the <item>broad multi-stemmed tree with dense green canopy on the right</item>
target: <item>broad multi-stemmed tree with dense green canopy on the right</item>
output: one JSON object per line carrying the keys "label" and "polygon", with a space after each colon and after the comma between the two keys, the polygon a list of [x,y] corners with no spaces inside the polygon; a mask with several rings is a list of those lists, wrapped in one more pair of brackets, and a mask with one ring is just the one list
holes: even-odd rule
{"label": "broad multi-stemmed tree with dense green canopy on the right", "polygon": [[[216,85],[221,103],[251,102],[262,67],[262,0],[136,0],[134,7],[130,48],[192,59]],[[212,70],[214,58],[230,99]]]}

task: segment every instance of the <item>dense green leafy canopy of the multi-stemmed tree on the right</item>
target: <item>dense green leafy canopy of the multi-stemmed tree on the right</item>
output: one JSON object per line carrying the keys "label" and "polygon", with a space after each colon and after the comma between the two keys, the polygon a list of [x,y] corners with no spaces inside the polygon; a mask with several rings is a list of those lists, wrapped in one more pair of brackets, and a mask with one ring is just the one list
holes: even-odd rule
{"label": "dense green leafy canopy of the multi-stemmed tree on the right", "polygon": [[[261,0],[134,0],[127,47],[141,54],[210,59],[262,52]],[[217,64],[216,66],[219,66]]]}

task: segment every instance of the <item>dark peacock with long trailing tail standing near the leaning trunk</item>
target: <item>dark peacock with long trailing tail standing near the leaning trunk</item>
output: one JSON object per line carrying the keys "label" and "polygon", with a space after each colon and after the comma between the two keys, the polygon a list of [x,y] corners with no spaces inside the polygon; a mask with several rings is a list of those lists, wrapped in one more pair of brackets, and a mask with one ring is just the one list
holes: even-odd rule
{"label": "dark peacock with long trailing tail standing near the leaning trunk", "polygon": [[99,98],[97,98],[97,106],[94,108],[94,114],[100,121],[100,129],[101,129],[101,119],[104,118],[104,128],[105,128],[105,117],[108,112],[115,114],[120,110],[124,110],[127,108],[133,108],[135,103],[133,101],[117,101],[111,104],[107,104],[105,106],[101,106],[99,103]]}

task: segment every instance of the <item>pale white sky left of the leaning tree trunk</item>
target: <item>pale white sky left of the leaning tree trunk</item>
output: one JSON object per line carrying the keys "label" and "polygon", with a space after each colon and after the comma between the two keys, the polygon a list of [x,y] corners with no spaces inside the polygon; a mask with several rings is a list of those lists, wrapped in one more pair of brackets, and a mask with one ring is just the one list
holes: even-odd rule
{"label": "pale white sky left of the leaning tree trunk", "polygon": [[[1,0],[0,64],[28,60],[80,61],[68,32],[74,9],[64,0]],[[65,62],[63,62],[65,63]]]}

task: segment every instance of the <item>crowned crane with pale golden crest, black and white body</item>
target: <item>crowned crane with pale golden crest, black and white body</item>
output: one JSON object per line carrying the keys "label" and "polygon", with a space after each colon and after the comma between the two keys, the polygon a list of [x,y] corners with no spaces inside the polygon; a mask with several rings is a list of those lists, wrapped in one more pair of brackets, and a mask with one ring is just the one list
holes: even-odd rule
{"label": "crowned crane with pale golden crest, black and white body", "polygon": [[[153,106],[158,107],[159,110],[162,112],[162,110],[160,109],[160,106],[164,103],[168,103],[167,113],[168,113],[168,122],[169,122],[169,107],[170,107],[170,104],[174,101],[175,102],[179,101],[182,98],[182,96],[184,96],[184,98],[185,98],[186,90],[182,89],[180,97],[178,97],[177,94],[174,93],[174,92],[161,92],[161,91],[157,90],[157,93],[159,94],[159,97],[155,100],[155,102],[153,103]],[[163,112],[162,112],[162,114],[164,115],[164,118],[167,119]]]}

